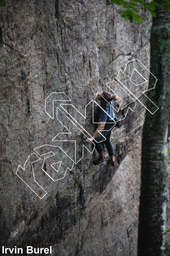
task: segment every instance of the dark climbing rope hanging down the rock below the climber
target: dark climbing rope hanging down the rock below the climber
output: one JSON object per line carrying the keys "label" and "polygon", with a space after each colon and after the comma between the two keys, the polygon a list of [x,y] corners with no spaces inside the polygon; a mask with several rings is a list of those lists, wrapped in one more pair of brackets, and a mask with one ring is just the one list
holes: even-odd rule
{"label": "dark climbing rope hanging down the rock below the climber", "polygon": [[[85,150],[84,150],[84,186],[83,186],[82,190],[80,189],[79,194],[77,194],[77,198],[79,201],[79,236],[80,236],[80,218],[81,218],[81,210],[82,210],[82,202],[83,202],[83,198],[84,198],[84,193],[85,193]],[[76,256],[80,256],[79,253],[80,253],[80,242],[78,240]]]}

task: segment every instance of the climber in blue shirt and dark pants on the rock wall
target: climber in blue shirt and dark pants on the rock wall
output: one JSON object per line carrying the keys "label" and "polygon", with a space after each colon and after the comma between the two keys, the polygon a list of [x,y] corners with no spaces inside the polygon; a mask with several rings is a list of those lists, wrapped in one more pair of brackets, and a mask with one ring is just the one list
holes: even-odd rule
{"label": "climber in blue shirt and dark pants on the rock wall", "polygon": [[99,158],[94,160],[93,164],[97,165],[104,162],[105,156],[103,154],[103,147],[102,147],[101,141],[103,141],[106,138],[106,140],[104,140],[104,143],[106,145],[108,154],[110,156],[109,162],[111,163],[112,166],[115,166],[114,150],[113,150],[113,146],[111,144],[110,138],[111,138],[111,129],[113,128],[113,122],[114,122],[113,119],[116,117],[113,111],[113,107],[114,107],[113,101],[118,100],[118,96],[103,91],[98,94],[97,99],[100,101],[100,107],[101,107],[99,110],[99,114],[100,114],[99,127],[97,128],[97,131],[95,132],[94,136],[92,138],[87,138],[86,141],[87,142],[93,141],[93,143],[95,144],[95,148],[99,153]]}

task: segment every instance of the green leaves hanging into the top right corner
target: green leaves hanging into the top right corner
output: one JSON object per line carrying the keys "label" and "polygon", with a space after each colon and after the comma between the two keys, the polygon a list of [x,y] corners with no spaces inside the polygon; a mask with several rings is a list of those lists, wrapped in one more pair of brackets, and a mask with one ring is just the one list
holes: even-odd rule
{"label": "green leaves hanging into the top right corner", "polygon": [[130,20],[130,22],[137,21],[142,24],[142,18],[139,14],[140,6],[146,8],[153,17],[156,17],[156,6],[164,10],[170,10],[170,0],[162,0],[161,3],[153,0],[150,3],[144,2],[144,0],[132,0],[127,2],[126,0],[111,0],[112,3],[116,3],[119,6],[122,6],[122,17]]}

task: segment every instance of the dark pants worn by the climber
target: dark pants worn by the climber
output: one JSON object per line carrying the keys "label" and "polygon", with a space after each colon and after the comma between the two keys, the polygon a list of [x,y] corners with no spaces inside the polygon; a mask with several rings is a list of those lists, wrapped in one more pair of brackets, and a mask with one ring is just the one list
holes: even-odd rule
{"label": "dark pants worn by the climber", "polygon": [[[105,124],[105,128],[104,130],[109,130],[111,129],[111,127],[113,126],[113,124]],[[106,138],[103,137],[103,136]],[[102,147],[102,144],[101,144],[101,141],[103,141],[106,145],[106,148],[108,150],[108,154],[109,156],[113,156],[114,155],[114,150],[113,150],[113,146],[112,146],[112,143],[111,143],[111,130],[110,131],[102,131],[102,135],[99,135],[98,137],[96,137],[96,141],[93,140],[93,143],[95,144],[95,148],[97,150],[98,153],[101,153],[103,151],[103,147]]]}

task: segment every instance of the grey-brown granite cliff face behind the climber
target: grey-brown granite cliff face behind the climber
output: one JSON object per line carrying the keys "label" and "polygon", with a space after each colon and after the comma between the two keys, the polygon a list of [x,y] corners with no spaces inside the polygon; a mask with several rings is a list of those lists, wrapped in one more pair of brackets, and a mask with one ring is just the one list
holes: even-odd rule
{"label": "grey-brown granite cliff face behind the climber", "polygon": [[[151,17],[144,10],[142,17],[142,25],[127,22],[121,18],[120,9],[109,0],[6,0],[6,4],[0,6],[5,43],[5,47],[0,46],[1,247],[24,249],[27,245],[51,245],[52,255],[76,254],[77,193],[84,182],[83,159],[66,172],[64,179],[56,182],[34,163],[35,177],[47,191],[42,199],[16,171],[41,145],[60,145],[71,156],[74,154],[74,143],[52,142],[63,131],[63,126],[56,116],[51,119],[45,112],[45,99],[51,93],[65,93],[71,104],[84,113],[96,92],[108,90],[106,83],[116,79],[127,61],[138,58],[149,69]],[[146,100],[142,93],[138,99]],[[130,104],[132,102],[123,103],[122,116],[125,117]],[[56,107],[54,102],[54,110]],[[94,111],[97,116],[97,108]],[[113,128],[115,168],[107,161],[93,166],[96,151],[91,154],[86,150],[80,229],[82,255],[137,255],[144,113],[145,108],[137,101],[135,110],[127,112],[121,128]],[[87,115],[90,120],[86,122],[86,129],[93,133],[92,113]],[[71,129],[69,123],[65,126]],[[82,145],[82,134],[73,129],[73,135],[77,145]],[[107,154],[105,151],[106,159]],[[41,168],[42,164],[43,161]],[[29,179],[31,165],[28,170]]]}

